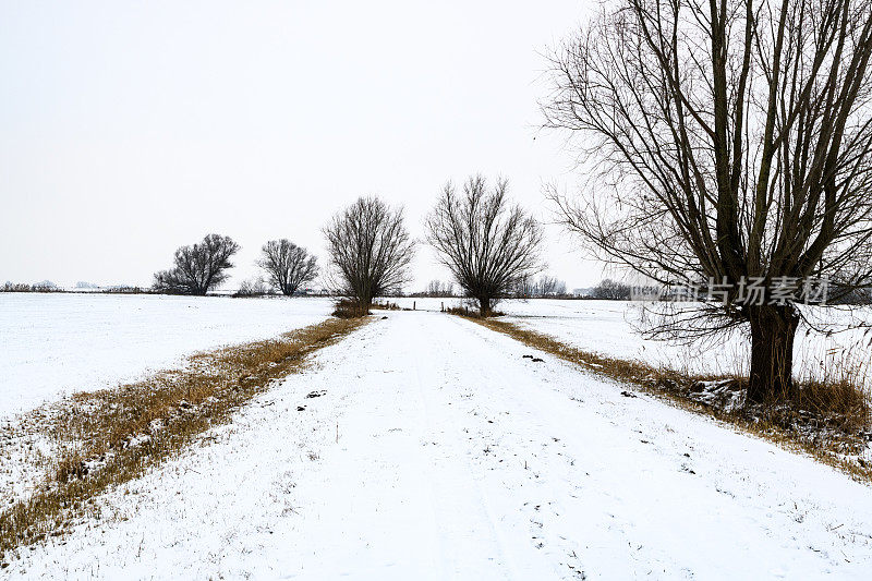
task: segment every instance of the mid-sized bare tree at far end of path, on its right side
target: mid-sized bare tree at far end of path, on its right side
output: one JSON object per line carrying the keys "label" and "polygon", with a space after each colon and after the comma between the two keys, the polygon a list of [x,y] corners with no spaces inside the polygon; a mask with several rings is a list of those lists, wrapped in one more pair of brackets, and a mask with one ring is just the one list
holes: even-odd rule
{"label": "mid-sized bare tree at far end of path, on its right side", "polygon": [[458,195],[449,182],[426,220],[427,242],[439,253],[467,296],[486,316],[496,301],[541,267],[542,230],[520,206],[509,204],[504,179],[488,190],[481,175]]}

